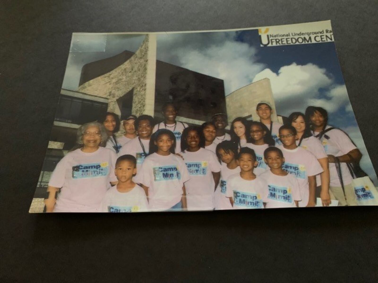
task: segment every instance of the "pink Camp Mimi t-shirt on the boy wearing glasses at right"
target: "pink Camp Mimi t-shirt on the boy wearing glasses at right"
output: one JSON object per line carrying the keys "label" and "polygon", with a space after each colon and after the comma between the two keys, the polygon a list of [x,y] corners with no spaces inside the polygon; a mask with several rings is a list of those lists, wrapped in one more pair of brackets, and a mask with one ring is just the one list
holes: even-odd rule
{"label": "pink Camp Mimi t-shirt on the boy wearing glasses at right", "polygon": [[282,169],[293,174],[298,180],[302,197],[299,206],[304,207],[308,204],[308,197],[310,196],[308,177],[323,172],[322,166],[318,159],[304,148],[285,149],[283,146],[278,146],[278,148],[282,150],[283,157],[285,157]]}

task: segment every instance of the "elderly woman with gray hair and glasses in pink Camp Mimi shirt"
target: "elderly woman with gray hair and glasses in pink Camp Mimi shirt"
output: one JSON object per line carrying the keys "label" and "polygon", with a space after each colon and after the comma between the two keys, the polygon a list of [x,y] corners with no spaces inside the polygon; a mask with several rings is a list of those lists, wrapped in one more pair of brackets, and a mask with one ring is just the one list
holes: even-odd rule
{"label": "elderly woman with gray hair and glasses in pink Camp Mimi shirt", "polygon": [[104,126],[97,122],[77,129],[81,148],[68,152],[56,165],[47,188],[46,212],[98,211],[110,184],[117,183],[116,154],[99,146],[107,138]]}

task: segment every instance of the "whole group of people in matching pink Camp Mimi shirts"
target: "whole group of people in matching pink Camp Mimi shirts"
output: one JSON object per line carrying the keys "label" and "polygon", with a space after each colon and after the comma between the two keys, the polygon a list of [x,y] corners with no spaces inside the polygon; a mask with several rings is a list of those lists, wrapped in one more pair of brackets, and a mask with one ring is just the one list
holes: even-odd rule
{"label": "whole group of people in matching pink Camp Mimi shirts", "polygon": [[347,134],[328,126],[325,109],[294,112],[288,124],[218,113],[201,126],[176,120],[173,103],[164,121],[107,112],[77,131],[79,148],[57,164],[46,212],[136,212],[357,205],[346,163],[361,153]]}

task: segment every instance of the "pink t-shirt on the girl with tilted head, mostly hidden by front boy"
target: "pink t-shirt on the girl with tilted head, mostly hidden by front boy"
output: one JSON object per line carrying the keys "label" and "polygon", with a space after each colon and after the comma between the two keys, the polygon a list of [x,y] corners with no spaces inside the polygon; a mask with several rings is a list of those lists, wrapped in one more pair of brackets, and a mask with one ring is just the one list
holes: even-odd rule
{"label": "pink t-shirt on the girl with tilted head, mostly hidden by front boy", "polygon": [[222,163],[220,167],[220,181],[217,189],[215,190],[215,209],[232,209],[230,200],[226,197],[227,179],[233,174],[240,173],[240,167],[229,169],[226,163]]}

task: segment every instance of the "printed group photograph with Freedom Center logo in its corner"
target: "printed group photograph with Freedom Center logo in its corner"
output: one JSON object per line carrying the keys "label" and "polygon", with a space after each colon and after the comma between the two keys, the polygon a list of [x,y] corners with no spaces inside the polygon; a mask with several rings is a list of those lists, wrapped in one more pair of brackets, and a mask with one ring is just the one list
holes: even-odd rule
{"label": "printed group photograph with Freedom Center logo in its corner", "polygon": [[378,205],[330,21],[73,33],[46,131],[30,213]]}

